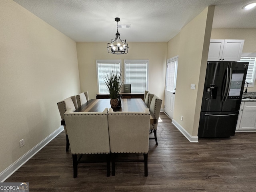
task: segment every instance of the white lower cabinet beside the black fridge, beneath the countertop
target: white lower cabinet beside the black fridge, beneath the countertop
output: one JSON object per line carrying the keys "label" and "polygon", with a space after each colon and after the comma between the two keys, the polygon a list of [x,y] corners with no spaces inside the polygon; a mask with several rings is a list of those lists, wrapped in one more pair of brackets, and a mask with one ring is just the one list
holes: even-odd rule
{"label": "white lower cabinet beside the black fridge, beneath the countertop", "polygon": [[256,102],[241,102],[236,132],[256,132]]}

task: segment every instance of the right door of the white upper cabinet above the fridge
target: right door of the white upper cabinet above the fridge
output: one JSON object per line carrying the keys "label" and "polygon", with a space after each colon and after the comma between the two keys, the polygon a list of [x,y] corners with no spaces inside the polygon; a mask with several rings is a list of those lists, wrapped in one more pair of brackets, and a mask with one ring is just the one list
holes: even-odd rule
{"label": "right door of the white upper cabinet above the fridge", "polygon": [[239,61],[243,46],[244,40],[225,39],[222,61]]}

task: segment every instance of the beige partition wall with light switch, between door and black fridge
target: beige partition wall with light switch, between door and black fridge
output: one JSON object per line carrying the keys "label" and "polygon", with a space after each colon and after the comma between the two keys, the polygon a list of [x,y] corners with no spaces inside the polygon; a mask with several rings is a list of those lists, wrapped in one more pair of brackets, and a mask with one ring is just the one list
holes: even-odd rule
{"label": "beige partition wall with light switch, between door and black fridge", "polygon": [[[168,43],[168,58],[177,55],[175,47],[179,55],[173,119],[191,136],[198,133],[213,14],[214,6],[206,8]],[[190,84],[196,84],[196,89],[190,89]]]}

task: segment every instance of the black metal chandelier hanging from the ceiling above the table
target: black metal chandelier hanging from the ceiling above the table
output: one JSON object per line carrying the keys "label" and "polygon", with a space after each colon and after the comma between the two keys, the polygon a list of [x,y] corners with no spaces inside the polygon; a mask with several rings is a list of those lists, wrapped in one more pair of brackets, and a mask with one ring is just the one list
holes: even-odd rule
{"label": "black metal chandelier hanging from the ceiling above the table", "polygon": [[117,22],[116,38],[115,40],[112,39],[111,43],[108,43],[108,52],[112,54],[128,53],[128,44],[126,43],[126,40],[122,41],[120,39],[120,33],[118,32],[118,21],[120,21],[120,18],[116,17],[115,21]]}

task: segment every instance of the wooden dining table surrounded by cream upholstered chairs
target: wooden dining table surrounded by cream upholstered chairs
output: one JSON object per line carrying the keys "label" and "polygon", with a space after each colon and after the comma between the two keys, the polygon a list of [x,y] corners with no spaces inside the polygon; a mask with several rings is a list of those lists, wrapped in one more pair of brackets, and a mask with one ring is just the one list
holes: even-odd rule
{"label": "wooden dining table surrounded by cream upholstered chairs", "polygon": [[[142,99],[121,99],[121,107],[113,108],[114,111],[122,112],[144,112],[146,104]],[[110,99],[91,99],[82,106],[80,106],[74,112],[102,112],[105,108],[111,108]],[[61,121],[62,125],[65,125],[65,121]],[[150,124],[156,124],[156,118],[154,114],[150,113]]]}

